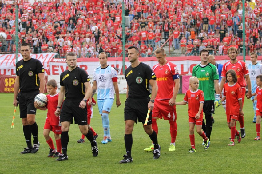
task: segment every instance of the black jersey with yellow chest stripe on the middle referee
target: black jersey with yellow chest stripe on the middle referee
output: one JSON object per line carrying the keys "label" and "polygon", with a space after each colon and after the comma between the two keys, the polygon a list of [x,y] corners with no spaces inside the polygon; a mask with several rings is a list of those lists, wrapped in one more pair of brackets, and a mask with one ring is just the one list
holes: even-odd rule
{"label": "black jersey with yellow chest stripe on the middle referee", "polygon": [[67,99],[82,100],[85,97],[85,82],[90,81],[84,69],[76,67],[73,71],[66,70],[60,75],[60,85],[65,86]]}

